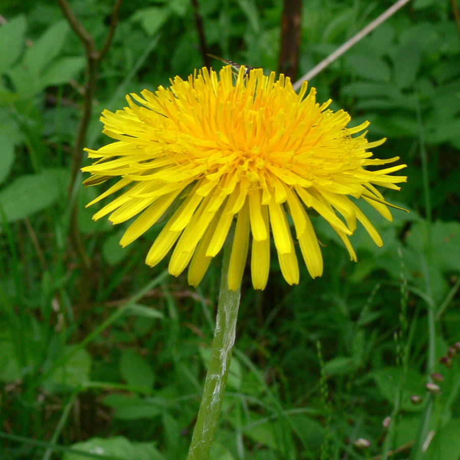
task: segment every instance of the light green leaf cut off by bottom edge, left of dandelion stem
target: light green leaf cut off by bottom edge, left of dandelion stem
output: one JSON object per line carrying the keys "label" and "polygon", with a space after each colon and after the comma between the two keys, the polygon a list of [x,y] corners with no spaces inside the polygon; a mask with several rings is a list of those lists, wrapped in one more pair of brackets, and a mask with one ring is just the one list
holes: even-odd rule
{"label": "light green leaf cut off by bottom edge, left of dandelion stem", "polygon": [[[83,443],[73,444],[72,448],[120,460],[164,460],[154,443],[131,442],[123,436],[109,439],[91,438]],[[76,452],[64,452],[62,458],[63,460],[88,460],[91,457]]]}

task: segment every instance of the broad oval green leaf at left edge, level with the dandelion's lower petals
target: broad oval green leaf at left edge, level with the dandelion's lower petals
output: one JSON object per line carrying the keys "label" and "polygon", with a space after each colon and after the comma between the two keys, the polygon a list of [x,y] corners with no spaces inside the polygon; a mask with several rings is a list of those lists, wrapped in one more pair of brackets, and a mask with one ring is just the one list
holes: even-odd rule
{"label": "broad oval green leaf at left edge, level with the dandelion's lower petals", "polygon": [[62,169],[21,176],[0,191],[2,212],[8,222],[24,219],[57,201],[66,185]]}

